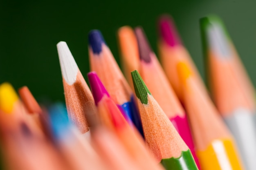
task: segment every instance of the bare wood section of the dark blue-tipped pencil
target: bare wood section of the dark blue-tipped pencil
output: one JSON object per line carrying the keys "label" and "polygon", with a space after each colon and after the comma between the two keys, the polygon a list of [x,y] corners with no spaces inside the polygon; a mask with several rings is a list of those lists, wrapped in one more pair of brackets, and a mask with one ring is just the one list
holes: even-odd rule
{"label": "bare wood section of the dark blue-tipped pencil", "polygon": [[99,54],[89,46],[89,57],[91,71],[97,73],[112,99],[119,105],[130,101],[132,90],[108,46],[102,42]]}

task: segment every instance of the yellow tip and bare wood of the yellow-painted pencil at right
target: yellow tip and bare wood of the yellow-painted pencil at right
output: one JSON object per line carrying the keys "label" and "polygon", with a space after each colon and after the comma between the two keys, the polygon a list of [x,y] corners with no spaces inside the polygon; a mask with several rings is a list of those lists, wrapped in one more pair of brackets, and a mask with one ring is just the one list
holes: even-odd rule
{"label": "yellow tip and bare wood of the yellow-painted pencil at right", "polygon": [[198,87],[189,65],[179,62],[177,70],[179,77],[183,77],[180,81],[184,87],[184,104],[191,121],[196,148],[204,150],[214,139],[230,138],[231,135],[208,94]]}

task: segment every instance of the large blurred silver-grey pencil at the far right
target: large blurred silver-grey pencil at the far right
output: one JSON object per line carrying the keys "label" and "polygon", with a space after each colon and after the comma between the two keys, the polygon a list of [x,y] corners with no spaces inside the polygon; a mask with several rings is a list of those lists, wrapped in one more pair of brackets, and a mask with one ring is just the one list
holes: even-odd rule
{"label": "large blurred silver-grey pencil at the far right", "polygon": [[[200,26],[213,100],[236,139],[246,169],[254,170],[256,124],[252,83],[245,71],[239,69],[241,63],[220,18],[202,18]],[[249,91],[253,92],[249,94]]]}

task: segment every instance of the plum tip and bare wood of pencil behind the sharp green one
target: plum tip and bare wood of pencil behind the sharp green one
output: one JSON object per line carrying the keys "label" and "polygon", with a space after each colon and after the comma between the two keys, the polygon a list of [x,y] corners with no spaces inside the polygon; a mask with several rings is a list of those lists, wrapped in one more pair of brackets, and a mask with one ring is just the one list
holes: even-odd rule
{"label": "plum tip and bare wood of pencil behind the sharp green one", "polygon": [[[140,27],[135,28],[135,34],[139,42],[140,51],[139,74],[150,93],[154,96],[154,99],[161,106],[169,119],[176,116],[184,117],[184,110],[159,64],[155,53],[151,50],[143,29]],[[143,48],[144,46],[148,46],[148,48]],[[145,53],[145,51],[147,51],[147,53]],[[148,59],[149,62],[146,62],[144,59]]]}

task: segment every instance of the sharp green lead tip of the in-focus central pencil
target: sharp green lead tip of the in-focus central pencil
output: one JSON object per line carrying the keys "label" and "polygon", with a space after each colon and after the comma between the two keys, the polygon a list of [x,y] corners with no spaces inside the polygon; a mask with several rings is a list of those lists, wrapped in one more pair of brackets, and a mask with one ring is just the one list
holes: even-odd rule
{"label": "sharp green lead tip of the in-focus central pencil", "polygon": [[146,84],[140,77],[137,70],[132,71],[132,82],[135,90],[136,96],[139,98],[141,103],[148,104],[148,94],[151,95],[150,91],[148,90]]}

